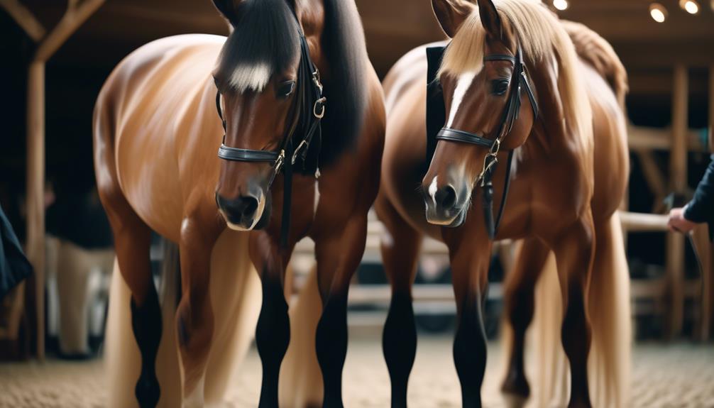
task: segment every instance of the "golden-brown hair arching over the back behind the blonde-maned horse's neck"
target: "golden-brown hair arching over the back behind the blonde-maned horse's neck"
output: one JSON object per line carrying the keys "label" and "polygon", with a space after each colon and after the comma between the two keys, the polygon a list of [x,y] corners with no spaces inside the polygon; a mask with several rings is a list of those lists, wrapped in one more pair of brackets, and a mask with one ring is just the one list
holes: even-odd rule
{"label": "golden-brown hair arching over the back behind the blonde-maned horse's neck", "polygon": [[629,91],[628,76],[620,57],[608,41],[584,24],[561,20],[563,28],[573,41],[575,52],[589,63],[613,88],[620,108],[625,109],[625,95]]}

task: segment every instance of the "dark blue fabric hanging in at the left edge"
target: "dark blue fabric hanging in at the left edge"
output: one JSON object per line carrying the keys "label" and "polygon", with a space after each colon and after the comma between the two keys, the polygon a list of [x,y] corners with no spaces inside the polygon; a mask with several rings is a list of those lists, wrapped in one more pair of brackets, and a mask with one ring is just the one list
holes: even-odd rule
{"label": "dark blue fabric hanging in at the left edge", "polygon": [[0,300],[32,273],[32,265],[0,207]]}

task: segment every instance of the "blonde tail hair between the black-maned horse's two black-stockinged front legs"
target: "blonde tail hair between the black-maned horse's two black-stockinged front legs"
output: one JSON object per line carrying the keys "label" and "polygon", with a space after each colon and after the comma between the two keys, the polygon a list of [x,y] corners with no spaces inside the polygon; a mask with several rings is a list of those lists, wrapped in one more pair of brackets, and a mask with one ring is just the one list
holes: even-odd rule
{"label": "blonde tail hair between the black-maned horse's two black-stockinged front legs", "polygon": [[290,345],[280,372],[281,407],[322,407],[322,372],[315,350],[321,315],[317,267],[313,267],[297,301],[290,305]]}

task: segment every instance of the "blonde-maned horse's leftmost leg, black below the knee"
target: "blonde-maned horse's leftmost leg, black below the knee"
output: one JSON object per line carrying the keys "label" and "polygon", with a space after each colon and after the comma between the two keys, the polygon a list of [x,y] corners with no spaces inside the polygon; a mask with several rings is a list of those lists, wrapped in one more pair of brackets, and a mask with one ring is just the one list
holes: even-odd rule
{"label": "blonde-maned horse's leftmost leg, black below the knee", "polygon": [[401,218],[385,198],[377,199],[376,210],[386,229],[381,239],[382,263],[392,287],[382,350],[391,379],[391,406],[406,407],[409,374],[416,355],[411,285],[416,274],[422,236]]}

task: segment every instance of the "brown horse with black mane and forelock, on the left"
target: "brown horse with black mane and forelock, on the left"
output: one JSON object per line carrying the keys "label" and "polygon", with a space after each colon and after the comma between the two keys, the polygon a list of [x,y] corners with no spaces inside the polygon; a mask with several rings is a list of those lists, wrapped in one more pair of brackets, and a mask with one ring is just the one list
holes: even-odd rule
{"label": "brown horse with black mane and forelock, on the left", "polygon": [[323,303],[316,353],[324,406],[341,407],[348,286],[378,192],[386,126],[358,11],[351,0],[213,4],[231,25],[227,39],[174,36],[141,47],[111,73],[94,113],[97,184],[141,352],[136,399],[153,407],[160,396],[151,230],[178,244],[183,406],[198,407],[213,307],[221,307],[208,290],[211,251],[230,228],[247,235],[262,282],[259,406],[278,406],[290,342],[285,268],[295,243],[310,237]]}

